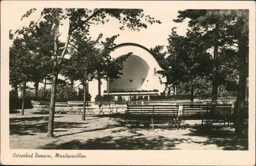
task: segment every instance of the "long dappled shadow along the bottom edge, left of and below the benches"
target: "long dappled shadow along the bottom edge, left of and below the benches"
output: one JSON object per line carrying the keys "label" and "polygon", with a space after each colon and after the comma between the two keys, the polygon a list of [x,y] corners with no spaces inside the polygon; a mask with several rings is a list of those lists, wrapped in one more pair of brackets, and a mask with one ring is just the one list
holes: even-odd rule
{"label": "long dappled shadow along the bottom edge, left of and below the benches", "polygon": [[[139,136],[139,137],[138,137]],[[65,149],[65,150],[161,150],[161,149],[177,149],[177,144],[186,141],[185,139],[168,139],[164,136],[141,137],[141,135],[126,136],[116,138],[113,136],[104,136],[101,138],[89,139],[88,141],[73,140],[70,142],[57,144],[53,142],[39,149]]]}

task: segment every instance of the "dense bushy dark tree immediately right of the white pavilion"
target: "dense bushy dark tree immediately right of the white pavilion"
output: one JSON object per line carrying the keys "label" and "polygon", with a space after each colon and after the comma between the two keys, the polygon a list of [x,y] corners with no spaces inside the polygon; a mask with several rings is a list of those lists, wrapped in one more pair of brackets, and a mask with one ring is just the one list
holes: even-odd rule
{"label": "dense bushy dark tree immediately right of the white pavilion", "polygon": [[167,39],[169,54],[165,59],[165,66],[172,68],[166,68],[159,73],[166,76],[168,85],[179,82],[178,86],[183,86],[183,90],[190,89],[193,101],[195,88],[201,88],[205,79],[209,79],[205,75],[211,73],[212,60],[207,53],[208,45],[202,42],[203,35],[198,27],[188,30],[186,36],[179,36],[175,29],[172,29],[172,35]]}

